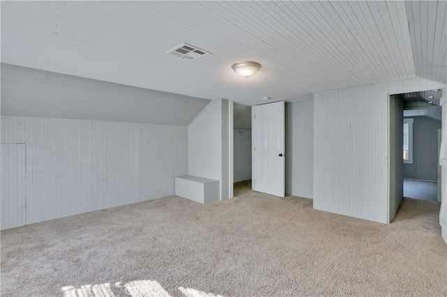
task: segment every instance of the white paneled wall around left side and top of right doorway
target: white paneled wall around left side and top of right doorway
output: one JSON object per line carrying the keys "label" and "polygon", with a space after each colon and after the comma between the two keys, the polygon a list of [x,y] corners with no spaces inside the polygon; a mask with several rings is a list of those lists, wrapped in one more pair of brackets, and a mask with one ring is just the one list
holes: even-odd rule
{"label": "white paneled wall around left side and top of right doorway", "polygon": [[314,208],[388,222],[388,95],[440,89],[413,78],[314,94]]}

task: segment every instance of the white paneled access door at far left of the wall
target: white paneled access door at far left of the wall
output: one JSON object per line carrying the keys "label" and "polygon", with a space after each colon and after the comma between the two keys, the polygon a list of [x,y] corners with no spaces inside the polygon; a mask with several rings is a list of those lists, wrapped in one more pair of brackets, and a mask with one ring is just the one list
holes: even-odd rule
{"label": "white paneled access door at far left of the wall", "polygon": [[0,229],[26,224],[25,144],[0,147]]}

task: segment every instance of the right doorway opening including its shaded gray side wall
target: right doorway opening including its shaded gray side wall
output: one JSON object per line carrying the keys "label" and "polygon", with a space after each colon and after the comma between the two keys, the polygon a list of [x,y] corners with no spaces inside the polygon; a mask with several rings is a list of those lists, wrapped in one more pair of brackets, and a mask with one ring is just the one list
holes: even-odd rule
{"label": "right doorway opening including its shaded gray side wall", "polygon": [[441,89],[390,95],[390,221],[402,197],[441,202]]}

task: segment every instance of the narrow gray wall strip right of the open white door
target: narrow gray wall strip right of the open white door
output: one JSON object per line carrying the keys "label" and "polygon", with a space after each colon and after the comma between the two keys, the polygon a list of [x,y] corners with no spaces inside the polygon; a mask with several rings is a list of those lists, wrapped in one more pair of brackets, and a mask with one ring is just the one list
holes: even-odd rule
{"label": "narrow gray wall strip right of the open white door", "polygon": [[314,197],[314,101],[286,104],[286,193]]}

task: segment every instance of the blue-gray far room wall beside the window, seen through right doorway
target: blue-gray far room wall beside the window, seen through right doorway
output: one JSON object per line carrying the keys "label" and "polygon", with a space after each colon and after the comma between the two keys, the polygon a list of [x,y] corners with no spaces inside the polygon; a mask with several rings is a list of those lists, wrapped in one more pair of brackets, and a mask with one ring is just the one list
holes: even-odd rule
{"label": "blue-gray far room wall beside the window, seen through right doorway", "polygon": [[413,164],[404,164],[404,178],[437,181],[438,129],[441,121],[428,116],[413,118]]}

